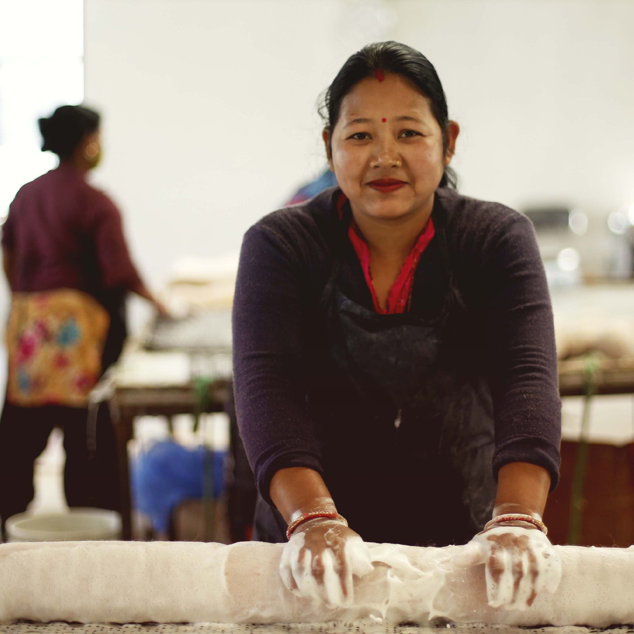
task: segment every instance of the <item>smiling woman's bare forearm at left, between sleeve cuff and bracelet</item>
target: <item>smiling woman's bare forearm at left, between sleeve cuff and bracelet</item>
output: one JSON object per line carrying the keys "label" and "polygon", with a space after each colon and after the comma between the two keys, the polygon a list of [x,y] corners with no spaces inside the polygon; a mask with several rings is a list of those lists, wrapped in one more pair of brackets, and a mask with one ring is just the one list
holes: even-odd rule
{"label": "smiling woman's bare forearm at left, between sleeve cuff and bracelet", "polygon": [[307,467],[280,469],[271,479],[269,493],[287,524],[304,513],[337,512],[323,478]]}

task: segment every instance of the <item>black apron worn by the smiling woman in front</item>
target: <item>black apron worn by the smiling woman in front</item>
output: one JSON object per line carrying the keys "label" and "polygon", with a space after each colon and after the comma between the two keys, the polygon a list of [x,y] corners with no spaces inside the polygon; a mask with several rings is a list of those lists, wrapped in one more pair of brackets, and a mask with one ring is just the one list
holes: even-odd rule
{"label": "black apron worn by the smiling woman in front", "polygon": [[[341,292],[349,205],[344,214],[321,297],[327,334],[315,347],[325,353],[309,361],[321,372],[306,399],[325,482],[365,541],[466,543],[493,512],[493,405],[481,351],[465,337],[469,320],[453,280],[444,210],[434,205],[446,290],[425,316],[377,314]],[[285,529],[259,498],[254,539],[285,541]]]}

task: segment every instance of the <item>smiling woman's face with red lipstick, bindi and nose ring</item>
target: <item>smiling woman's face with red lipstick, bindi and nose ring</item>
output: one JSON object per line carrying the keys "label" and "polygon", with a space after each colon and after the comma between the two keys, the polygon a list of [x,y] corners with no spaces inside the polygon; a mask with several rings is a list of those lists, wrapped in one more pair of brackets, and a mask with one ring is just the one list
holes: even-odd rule
{"label": "smiling woman's face with red lipstick, bindi and nose ring", "polygon": [[[341,102],[330,169],[358,214],[396,219],[430,212],[458,131],[450,122],[445,154],[425,96],[399,75],[367,77]],[[324,141],[328,146],[328,131]]]}

